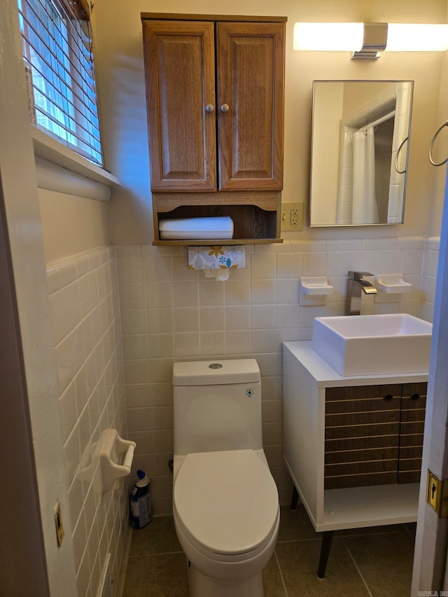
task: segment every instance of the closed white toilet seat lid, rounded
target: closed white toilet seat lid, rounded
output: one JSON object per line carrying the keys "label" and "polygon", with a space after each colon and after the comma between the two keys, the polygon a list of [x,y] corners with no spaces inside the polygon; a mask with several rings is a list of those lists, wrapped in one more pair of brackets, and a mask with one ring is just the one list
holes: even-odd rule
{"label": "closed white toilet seat lid, rounded", "polygon": [[174,482],[178,524],[202,553],[253,557],[276,531],[279,496],[253,450],[188,454]]}

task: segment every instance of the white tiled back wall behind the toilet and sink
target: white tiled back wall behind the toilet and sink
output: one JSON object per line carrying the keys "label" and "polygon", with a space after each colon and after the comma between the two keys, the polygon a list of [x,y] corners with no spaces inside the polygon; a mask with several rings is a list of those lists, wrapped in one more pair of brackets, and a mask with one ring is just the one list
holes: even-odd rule
{"label": "white tiled back wall behind the toilet and sink", "polygon": [[[285,241],[247,247],[247,268],[225,282],[185,266],[183,248],[116,246],[128,435],[135,461],[151,477],[155,514],[172,510],[172,366],[175,360],[247,358],[262,374],[263,442],[281,503],[290,499],[282,459],[281,342],[311,338],[315,316],[342,315],[349,269],[402,273],[412,291],[400,302],[363,298],[363,313],[404,312],[430,319],[431,251],[425,239]],[[325,307],[299,307],[300,276],[328,276]],[[433,301],[433,298],[432,298]],[[69,414],[67,415],[69,416]],[[72,415],[73,416],[73,415]]]}

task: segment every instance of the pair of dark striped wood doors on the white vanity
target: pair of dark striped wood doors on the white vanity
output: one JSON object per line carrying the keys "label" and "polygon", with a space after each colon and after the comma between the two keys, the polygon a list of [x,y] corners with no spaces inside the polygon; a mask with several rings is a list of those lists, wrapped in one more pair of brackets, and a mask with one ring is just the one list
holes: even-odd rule
{"label": "pair of dark striped wood doors on the white vanity", "polygon": [[426,384],[327,388],[325,489],[420,479]]}

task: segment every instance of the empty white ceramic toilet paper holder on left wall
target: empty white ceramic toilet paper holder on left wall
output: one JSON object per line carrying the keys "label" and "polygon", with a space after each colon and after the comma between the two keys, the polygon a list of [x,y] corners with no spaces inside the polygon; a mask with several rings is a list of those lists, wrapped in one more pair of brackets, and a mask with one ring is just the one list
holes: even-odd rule
{"label": "empty white ceramic toilet paper holder on left wall", "polygon": [[[102,439],[99,458],[101,461],[103,491],[106,492],[111,491],[115,479],[130,475],[134,449],[137,444],[130,440],[122,440],[116,429],[104,430]],[[124,458],[123,454],[125,455]]]}

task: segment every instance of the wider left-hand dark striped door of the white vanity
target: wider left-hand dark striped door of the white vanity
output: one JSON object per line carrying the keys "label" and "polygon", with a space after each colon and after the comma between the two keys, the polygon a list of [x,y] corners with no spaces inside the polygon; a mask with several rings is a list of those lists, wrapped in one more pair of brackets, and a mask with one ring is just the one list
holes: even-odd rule
{"label": "wider left-hand dark striped door of the white vanity", "polygon": [[401,384],[327,388],[324,488],[397,482]]}

